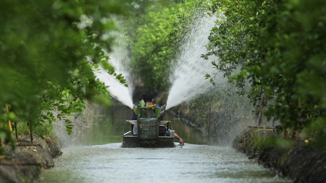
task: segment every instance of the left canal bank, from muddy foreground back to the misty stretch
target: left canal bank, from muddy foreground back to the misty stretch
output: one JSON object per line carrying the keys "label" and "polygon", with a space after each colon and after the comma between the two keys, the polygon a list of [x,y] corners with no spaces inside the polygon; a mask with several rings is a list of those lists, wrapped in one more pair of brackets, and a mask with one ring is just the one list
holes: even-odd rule
{"label": "left canal bank, from muddy foreground back to the misty stretch", "polygon": [[59,119],[52,123],[53,137],[43,139],[35,134],[31,143],[30,135],[18,135],[15,149],[6,145],[6,156],[0,156],[0,182],[34,182],[41,172],[55,167],[54,159],[63,154],[61,148],[80,145],[78,140],[91,125],[87,121],[97,115],[94,112],[97,107],[87,106],[84,115],[66,116],[73,124],[71,135],[67,133],[65,121]]}

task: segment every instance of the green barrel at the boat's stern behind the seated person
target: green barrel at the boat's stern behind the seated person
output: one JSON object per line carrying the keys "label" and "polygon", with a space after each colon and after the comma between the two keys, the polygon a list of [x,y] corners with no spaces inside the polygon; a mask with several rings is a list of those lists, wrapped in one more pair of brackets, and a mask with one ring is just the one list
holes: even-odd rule
{"label": "green barrel at the boat's stern behind the seated person", "polygon": [[149,107],[140,108],[140,117],[138,118],[138,140],[144,145],[147,143],[155,145],[158,143],[158,125],[159,120],[155,117],[153,109]]}

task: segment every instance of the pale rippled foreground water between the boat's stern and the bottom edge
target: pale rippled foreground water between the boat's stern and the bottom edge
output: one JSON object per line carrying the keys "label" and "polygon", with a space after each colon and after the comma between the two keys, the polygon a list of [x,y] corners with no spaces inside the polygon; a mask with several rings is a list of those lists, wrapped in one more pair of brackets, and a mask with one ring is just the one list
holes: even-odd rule
{"label": "pale rippled foreground water between the boat's stern and the bottom edge", "polygon": [[285,182],[231,147],[122,148],[121,143],[63,149],[40,182]]}

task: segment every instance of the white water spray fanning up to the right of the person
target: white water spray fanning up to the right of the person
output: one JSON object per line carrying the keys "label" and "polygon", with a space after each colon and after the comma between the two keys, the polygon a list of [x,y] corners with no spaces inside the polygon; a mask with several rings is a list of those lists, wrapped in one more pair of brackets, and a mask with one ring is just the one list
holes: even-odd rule
{"label": "white water spray fanning up to the right of the person", "polygon": [[[174,60],[172,72],[169,76],[171,88],[167,100],[167,108],[177,106],[185,101],[195,99],[200,94],[209,92],[214,86],[205,80],[205,75],[216,73],[218,70],[211,62],[218,61],[218,57],[210,56],[208,60],[201,58],[201,54],[207,52],[205,45],[211,28],[215,25],[216,16],[208,16],[202,13],[194,23],[191,32],[186,36],[181,45],[179,57]],[[215,83],[225,82],[223,73],[217,73]]]}

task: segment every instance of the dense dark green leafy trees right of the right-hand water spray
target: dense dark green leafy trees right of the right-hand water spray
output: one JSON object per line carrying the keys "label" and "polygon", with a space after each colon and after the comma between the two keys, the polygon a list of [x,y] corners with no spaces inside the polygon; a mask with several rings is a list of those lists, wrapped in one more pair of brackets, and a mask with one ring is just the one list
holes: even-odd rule
{"label": "dense dark green leafy trees right of the right-hand water spray", "polygon": [[[279,120],[278,130],[326,129],[326,3],[211,1],[220,20],[209,36],[212,63],[230,76],[256,113]],[[206,55],[206,56],[207,56]],[[231,76],[236,69],[240,72]],[[213,77],[213,76],[210,76]],[[249,81],[247,92],[244,83]],[[260,125],[260,124],[259,124]]]}

